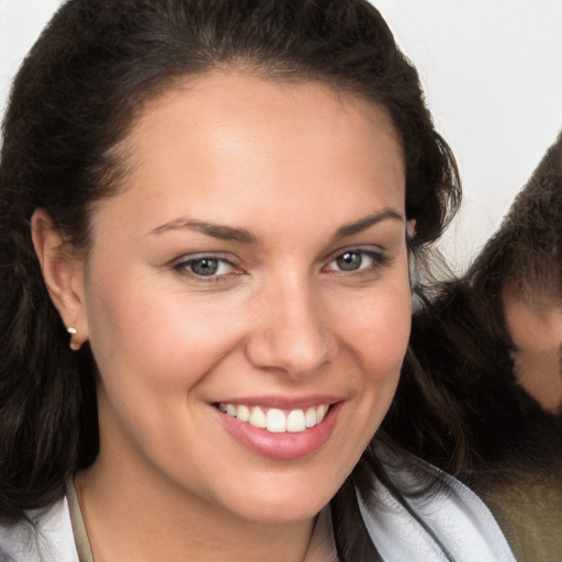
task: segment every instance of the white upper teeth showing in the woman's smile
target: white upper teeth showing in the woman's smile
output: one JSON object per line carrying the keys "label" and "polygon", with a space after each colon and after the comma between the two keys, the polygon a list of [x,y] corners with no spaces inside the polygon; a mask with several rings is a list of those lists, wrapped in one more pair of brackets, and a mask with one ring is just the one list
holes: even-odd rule
{"label": "white upper teeth showing in the woman's smile", "polygon": [[289,431],[297,434],[308,427],[319,424],[326,412],[328,404],[321,404],[307,409],[282,411],[278,408],[261,408],[260,406],[244,406],[236,404],[225,404],[221,402],[218,408],[240,422],[247,422],[250,426],[267,429],[272,434],[283,434]]}

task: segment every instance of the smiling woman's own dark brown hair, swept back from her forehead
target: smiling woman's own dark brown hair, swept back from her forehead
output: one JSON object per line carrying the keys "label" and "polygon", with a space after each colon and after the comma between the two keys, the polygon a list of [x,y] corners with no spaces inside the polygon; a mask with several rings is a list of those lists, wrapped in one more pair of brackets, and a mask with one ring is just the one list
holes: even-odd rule
{"label": "smiling woman's own dark brown hair, swept back from her forehead", "polygon": [[[212,69],[318,80],[384,106],[404,147],[406,215],[417,221],[413,251],[440,235],[460,203],[457,166],[432,126],[417,72],[367,1],[63,4],[13,82],[2,130],[0,515],[5,519],[60,498],[65,481],[91,464],[99,447],[94,361],[88,345],[69,350],[33,251],[30,217],[46,207],[64,238],[87,256],[90,212],[122,189],[120,142],[146,102]],[[363,493],[372,486],[376,467],[366,452],[333,502],[342,561],[376,560],[368,558],[374,554],[355,496],[356,484]]]}

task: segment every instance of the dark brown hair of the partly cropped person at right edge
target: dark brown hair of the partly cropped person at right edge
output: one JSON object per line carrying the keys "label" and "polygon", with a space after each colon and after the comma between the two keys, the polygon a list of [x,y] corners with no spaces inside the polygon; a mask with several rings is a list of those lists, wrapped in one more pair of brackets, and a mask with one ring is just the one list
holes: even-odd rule
{"label": "dark brown hair of the partly cropped person at right edge", "polygon": [[[492,473],[560,470],[562,461],[561,416],[541,408],[515,379],[506,288],[530,307],[562,303],[562,133],[465,276],[425,295],[420,288],[425,304],[413,318],[411,360],[385,419],[403,447],[451,468],[454,427],[442,425],[427,401],[412,409],[420,373],[430,373],[460,415],[468,456],[454,469],[472,483]],[[422,426],[418,417],[432,422]]]}

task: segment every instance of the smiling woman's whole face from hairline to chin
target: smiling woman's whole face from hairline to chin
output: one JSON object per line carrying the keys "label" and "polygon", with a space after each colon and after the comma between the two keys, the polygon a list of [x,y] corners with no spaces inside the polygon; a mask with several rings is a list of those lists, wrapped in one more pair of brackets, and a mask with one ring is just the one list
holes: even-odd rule
{"label": "smiling woman's whole face from hairline to chin", "polygon": [[77,326],[100,371],[98,470],[200,509],[314,515],[385,415],[408,339],[389,115],[215,72],[149,103],[124,148]]}

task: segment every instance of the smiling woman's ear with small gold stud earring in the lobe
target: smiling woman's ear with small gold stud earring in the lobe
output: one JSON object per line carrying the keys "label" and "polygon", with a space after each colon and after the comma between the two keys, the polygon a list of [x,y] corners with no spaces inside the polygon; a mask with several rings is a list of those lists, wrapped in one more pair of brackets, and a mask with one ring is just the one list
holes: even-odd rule
{"label": "smiling woman's ear with small gold stud earring in the lobe", "polygon": [[70,347],[78,350],[88,339],[85,262],[65,243],[46,209],[33,213],[31,234],[50,300],[65,326],[76,329]]}

